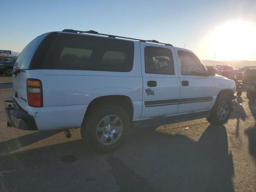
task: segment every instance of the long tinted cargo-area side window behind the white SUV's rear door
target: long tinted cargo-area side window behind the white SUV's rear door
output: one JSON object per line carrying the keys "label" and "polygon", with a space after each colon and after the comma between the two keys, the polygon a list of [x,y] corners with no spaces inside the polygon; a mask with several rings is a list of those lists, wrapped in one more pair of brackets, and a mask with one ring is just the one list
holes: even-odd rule
{"label": "long tinted cargo-area side window behind the white SUV's rear door", "polygon": [[44,68],[129,72],[134,43],[110,38],[59,34]]}

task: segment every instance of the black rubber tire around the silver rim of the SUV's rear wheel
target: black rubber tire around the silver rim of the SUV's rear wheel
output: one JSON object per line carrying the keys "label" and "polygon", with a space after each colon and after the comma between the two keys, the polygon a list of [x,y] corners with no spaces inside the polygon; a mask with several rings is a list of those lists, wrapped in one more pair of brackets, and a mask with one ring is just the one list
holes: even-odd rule
{"label": "black rubber tire around the silver rim of the SUV's rear wheel", "polygon": [[[97,139],[96,128],[98,126],[98,123],[102,120],[102,118],[111,114],[116,115],[120,118],[123,124],[123,132],[118,141],[116,141],[114,144],[110,146],[104,146]],[[126,138],[130,128],[130,120],[128,114],[120,106],[106,105],[99,107],[96,110],[93,110],[93,112],[90,114],[90,116],[88,116],[88,118],[88,122],[81,127],[81,129],[83,129],[81,130],[82,138],[86,140],[86,143],[93,151],[100,153],[110,152],[118,148]]]}

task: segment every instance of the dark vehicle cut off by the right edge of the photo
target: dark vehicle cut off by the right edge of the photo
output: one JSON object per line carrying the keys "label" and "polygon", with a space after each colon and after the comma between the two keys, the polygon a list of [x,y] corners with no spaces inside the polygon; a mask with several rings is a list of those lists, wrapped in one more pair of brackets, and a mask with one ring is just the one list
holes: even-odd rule
{"label": "dark vehicle cut off by the right edge of the photo", "polygon": [[256,69],[246,69],[242,81],[247,98],[249,100],[256,100]]}

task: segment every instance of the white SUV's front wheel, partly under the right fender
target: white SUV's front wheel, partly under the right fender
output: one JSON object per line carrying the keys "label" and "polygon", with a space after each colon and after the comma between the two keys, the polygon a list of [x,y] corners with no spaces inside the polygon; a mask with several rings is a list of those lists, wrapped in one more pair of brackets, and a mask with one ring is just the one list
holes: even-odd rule
{"label": "white SUV's front wheel, partly under the right fender", "polygon": [[210,116],[206,119],[213,125],[222,125],[228,121],[232,110],[232,99],[226,95],[221,94],[210,110]]}

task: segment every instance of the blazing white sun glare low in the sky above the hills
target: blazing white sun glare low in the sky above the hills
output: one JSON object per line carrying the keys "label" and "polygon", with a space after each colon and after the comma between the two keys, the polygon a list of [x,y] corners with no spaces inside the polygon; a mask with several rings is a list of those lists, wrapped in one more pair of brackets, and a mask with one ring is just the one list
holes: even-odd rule
{"label": "blazing white sun glare low in the sky above the hills", "polygon": [[255,60],[256,25],[252,22],[226,22],[215,28],[205,39],[207,52],[216,60]]}

